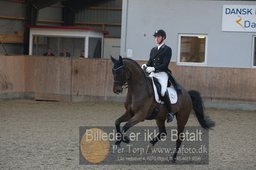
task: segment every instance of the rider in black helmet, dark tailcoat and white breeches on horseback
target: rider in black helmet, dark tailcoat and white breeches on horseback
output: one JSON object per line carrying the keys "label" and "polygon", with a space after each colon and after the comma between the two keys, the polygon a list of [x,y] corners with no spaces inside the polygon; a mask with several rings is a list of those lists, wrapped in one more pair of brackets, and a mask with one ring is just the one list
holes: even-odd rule
{"label": "rider in black helmet, dark tailcoat and white breeches on horseback", "polygon": [[149,61],[147,64],[142,65],[142,68],[146,66],[146,72],[150,73],[149,76],[156,77],[161,84],[161,95],[168,110],[167,122],[169,123],[173,121],[175,116],[171,109],[168,92],[166,91],[168,82],[166,72],[169,70],[168,65],[171,61],[171,48],[164,43],[166,39],[166,32],[164,30],[158,29],[153,36],[155,36],[157,47],[151,49]]}

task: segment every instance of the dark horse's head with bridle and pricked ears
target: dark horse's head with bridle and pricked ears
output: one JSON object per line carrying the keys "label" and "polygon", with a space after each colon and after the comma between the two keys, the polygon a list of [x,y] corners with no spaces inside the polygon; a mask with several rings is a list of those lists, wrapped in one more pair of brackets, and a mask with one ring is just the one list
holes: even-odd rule
{"label": "dark horse's head with bridle and pricked ears", "polygon": [[123,58],[119,56],[119,59],[112,58],[114,66],[112,68],[112,73],[114,75],[114,87],[113,91],[115,94],[122,93],[124,84],[127,82],[126,70],[123,63]]}

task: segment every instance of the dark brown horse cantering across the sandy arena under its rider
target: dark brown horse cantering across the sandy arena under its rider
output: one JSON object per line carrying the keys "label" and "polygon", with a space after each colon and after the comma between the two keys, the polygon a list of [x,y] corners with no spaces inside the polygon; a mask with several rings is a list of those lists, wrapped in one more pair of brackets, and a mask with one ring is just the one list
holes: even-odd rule
{"label": "dark brown horse cantering across the sandy arena under its rider", "polygon": [[[126,100],[124,102],[124,107],[126,111],[124,114],[115,120],[115,128],[119,134],[121,134],[114,145],[120,147],[120,143],[130,143],[128,136],[124,133],[137,123],[144,120],[151,120],[152,113],[154,109],[159,105],[154,98],[153,86],[151,84],[151,79],[148,79],[144,70],[141,66],[130,58],[115,59],[111,56],[114,66],[112,68],[112,73],[114,75],[114,87],[113,91],[115,94],[123,92],[124,86],[128,88]],[[186,91],[183,87],[182,94],[178,95],[178,100],[176,104],[171,104],[173,113],[175,113],[177,121],[177,132],[178,136],[183,132],[187,120],[189,119],[189,114],[191,114],[192,109],[196,114],[196,118],[199,121],[201,127],[209,130],[215,126],[215,122],[210,120],[209,116],[204,114],[203,100],[201,98],[200,92],[196,90]],[[166,105],[160,104],[159,112],[153,119],[155,119],[158,126],[157,136],[149,142],[148,147],[153,147],[162,137],[167,135],[165,121],[167,118],[167,108]],[[120,124],[127,122],[123,126],[121,132]],[[176,151],[173,154],[173,162],[175,162],[178,149],[182,144],[182,137],[176,139]]]}

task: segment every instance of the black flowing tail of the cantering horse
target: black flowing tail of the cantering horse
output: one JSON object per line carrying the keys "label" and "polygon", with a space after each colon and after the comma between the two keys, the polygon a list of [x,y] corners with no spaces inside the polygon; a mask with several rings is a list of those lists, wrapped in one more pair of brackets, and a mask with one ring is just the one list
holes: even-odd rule
{"label": "black flowing tail of the cantering horse", "polygon": [[215,126],[215,122],[210,120],[209,116],[205,116],[204,114],[204,105],[203,100],[201,98],[200,92],[196,90],[187,91],[192,99],[192,105],[194,108],[194,113],[196,114],[196,118],[198,119],[201,127],[205,129],[209,129]]}

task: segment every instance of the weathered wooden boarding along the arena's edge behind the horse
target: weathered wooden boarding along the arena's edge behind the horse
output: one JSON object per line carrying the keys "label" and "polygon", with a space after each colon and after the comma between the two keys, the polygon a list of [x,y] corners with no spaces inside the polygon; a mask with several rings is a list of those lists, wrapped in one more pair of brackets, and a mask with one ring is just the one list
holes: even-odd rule
{"label": "weathered wooden boarding along the arena's edge behind the horse", "polygon": [[[0,56],[0,98],[33,94],[35,100],[121,100],[126,93],[113,93],[112,66],[110,59]],[[174,62],[169,68],[185,89],[200,91],[205,102],[256,104],[256,69]]]}

